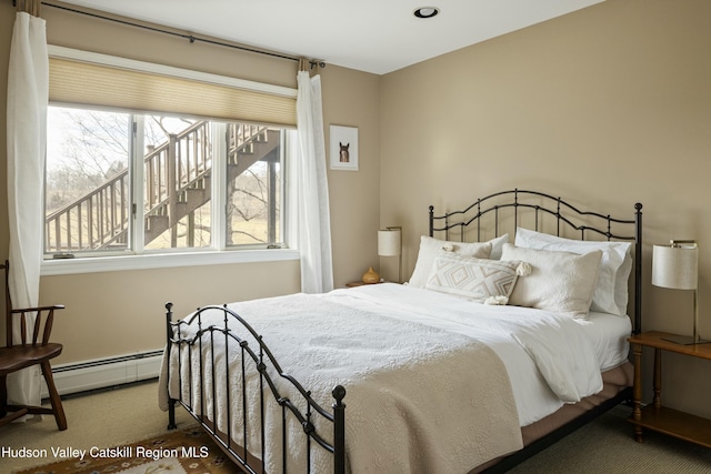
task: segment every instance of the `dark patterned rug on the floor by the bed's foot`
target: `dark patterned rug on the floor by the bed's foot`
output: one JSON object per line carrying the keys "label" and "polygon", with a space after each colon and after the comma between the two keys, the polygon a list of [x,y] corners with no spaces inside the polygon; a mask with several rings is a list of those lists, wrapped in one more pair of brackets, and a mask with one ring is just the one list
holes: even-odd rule
{"label": "dark patterned rug on the floor by the bed's foot", "polygon": [[236,474],[241,471],[212,440],[193,426],[114,447],[74,450],[52,446],[34,453],[50,464],[13,471],[14,474]]}

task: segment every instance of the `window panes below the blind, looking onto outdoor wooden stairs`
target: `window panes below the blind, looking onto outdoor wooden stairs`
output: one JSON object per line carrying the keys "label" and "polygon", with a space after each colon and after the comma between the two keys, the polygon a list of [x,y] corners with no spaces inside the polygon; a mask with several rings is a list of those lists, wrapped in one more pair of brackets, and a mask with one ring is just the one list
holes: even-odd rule
{"label": "window panes below the blind, looking onto outdoor wooden stairs", "polygon": [[281,246],[283,133],[50,107],[47,256]]}

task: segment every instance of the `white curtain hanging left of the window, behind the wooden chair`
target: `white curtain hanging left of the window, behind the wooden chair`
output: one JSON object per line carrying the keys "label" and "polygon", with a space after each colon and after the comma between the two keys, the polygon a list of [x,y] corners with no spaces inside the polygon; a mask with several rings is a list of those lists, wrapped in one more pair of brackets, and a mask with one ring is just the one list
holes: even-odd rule
{"label": "white curtain hanging left of the window, behind the wooden chair", "polygon": [[[9,283],[14,307],[37,306],[39,299],[48,61],[44,20],[18,12],[8,68]],[[19,325],[14,327],[17,339]],[[37,366],[8,377],[8,399],[19,404],[40,404]]]}

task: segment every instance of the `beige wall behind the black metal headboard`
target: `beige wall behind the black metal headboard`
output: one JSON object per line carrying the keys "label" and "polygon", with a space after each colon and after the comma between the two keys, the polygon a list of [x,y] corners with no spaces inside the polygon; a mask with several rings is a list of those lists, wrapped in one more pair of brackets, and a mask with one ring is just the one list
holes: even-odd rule
{"label": "beige wall behind the black metal headboard", "polygon": [[[650,254],[698,239],[711,337],[710,18],[705,0],[608,0],[384,75],[381,223],[404,226],[405,268],[429,204],[513,188],[630,216],[641,202],[643,327],[690,333],[691,294],[652,288]],[[709,362],[664,363],[664,400],[711,415]]]}

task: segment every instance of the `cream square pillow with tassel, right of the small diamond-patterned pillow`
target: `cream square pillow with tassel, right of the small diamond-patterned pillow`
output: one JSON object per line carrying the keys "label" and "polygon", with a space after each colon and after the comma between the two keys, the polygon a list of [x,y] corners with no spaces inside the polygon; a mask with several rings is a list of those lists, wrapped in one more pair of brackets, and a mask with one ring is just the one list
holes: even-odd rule
{"label": "cream square pillow with tassel, right of the small diamond-patterned pillow", "polygon": [[588,317],[601,256],[600,250],[578,255],[507,243],[501,261],[531,265],[531,274],[513,288],[509,304]]}

